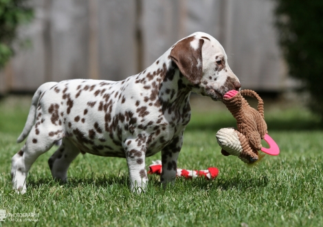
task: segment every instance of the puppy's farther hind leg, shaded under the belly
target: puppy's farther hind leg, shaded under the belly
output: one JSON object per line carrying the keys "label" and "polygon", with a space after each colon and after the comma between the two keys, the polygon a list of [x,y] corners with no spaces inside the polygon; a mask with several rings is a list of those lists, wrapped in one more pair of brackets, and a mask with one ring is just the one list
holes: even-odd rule
{"label": "puppy's farther hind leg, shaded under the belly", "polygon": [[49,169],[52,171],[54,179],[61,180],[62,182],[67,181],[69,164],[79,153],[80,150],[69,139],[63,138],[60,147],[48,160]]}

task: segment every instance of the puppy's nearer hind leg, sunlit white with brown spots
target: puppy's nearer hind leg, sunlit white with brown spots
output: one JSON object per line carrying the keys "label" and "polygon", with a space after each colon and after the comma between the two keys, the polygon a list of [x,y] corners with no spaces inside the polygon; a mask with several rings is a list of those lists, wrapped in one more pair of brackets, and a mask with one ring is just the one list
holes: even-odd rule
{"label": "puppy's nearer hind leg, sunlit white with brown spots", "polygon": [[12,188],[18,193],[26,192],[26,177],[36,159],[48,151],[63,136],[63,131],[58,131],[55,136],[48,136],[45,125],[32,127],[23,148],[12,157]]}

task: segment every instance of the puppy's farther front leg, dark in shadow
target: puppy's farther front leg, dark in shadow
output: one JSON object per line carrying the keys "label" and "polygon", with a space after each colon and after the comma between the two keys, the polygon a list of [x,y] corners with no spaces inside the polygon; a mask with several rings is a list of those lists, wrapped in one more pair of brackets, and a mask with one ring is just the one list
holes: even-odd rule
{"label": "puppy's farther front leg, dark in shadow", "polygon": [[161,150],[161,175],[160,181],[164,188],[168,183],[174,184],[177,172],[177,157],[183,145],[183,133],[172,138],[172,142]]}

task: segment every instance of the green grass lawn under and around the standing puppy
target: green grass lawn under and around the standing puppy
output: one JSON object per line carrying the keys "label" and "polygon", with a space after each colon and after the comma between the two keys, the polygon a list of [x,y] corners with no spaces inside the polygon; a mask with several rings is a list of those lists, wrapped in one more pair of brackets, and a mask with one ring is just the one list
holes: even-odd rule
{"label": "green grass lawn under and around the standing puppy", "polygon": [[[32,167],[27,193],[17,195],[11,189],[10,160],[21,148],[15,140],[30,98],[0,100],[0,209],[39,213],[36,223],[7,219],[0,226],[322,226],[323,131],[315,116],[297,106],[269,107],[269,133],[281,153],[249,168],[221,155],[216,142],[216,131],[235,126],[230,113],[221,103],[212,102],[218,109],[209,102],[206,109],[192,103],[178,166],[216,166],[216,180],[178,179],[164,190],[159,177],[149,175],[146,193],[132,194],[124,159],[87,154],[71,164],[69,183],[59,184],[47,166],[53,148]],[[160,153],[146,158],[146,166],[157,159]]]}

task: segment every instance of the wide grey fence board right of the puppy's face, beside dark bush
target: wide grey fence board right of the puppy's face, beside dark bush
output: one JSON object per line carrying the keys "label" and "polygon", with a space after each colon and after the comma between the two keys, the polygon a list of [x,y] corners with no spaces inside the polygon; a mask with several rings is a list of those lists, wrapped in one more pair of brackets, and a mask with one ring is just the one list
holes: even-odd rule
{"label": "wide grey fence board right of the puppy's face, beside dark bush", "polygon": [[274,3],[267,0],[234,1],[230,10],[232,25],[225,50],[231,69],[244,88],[280,90],[284,67],[276,31],[273,28]]}

